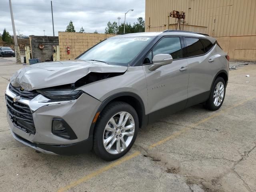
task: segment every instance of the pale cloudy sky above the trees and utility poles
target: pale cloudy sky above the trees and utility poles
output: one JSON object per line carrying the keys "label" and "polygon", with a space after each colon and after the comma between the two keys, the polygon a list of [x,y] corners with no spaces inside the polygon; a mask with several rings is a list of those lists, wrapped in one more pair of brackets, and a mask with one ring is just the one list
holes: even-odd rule
{"label": "pale cloudy sky above the trees and utility poles", "polygon": [[[65,31],[73,21],[76,32],[81,26],[86,32],[104,33],[107,22],[124,22],[124,13],[134,9],[126,16],[128,23],[134,23],[138,17],[145,18],[145,0],[52,0],[54,32]],[[12,0],[16,34],[52,36],[52,14],[50,0]],[[4,28],[12,35],[9,0],[0,3],[0,33]]]}

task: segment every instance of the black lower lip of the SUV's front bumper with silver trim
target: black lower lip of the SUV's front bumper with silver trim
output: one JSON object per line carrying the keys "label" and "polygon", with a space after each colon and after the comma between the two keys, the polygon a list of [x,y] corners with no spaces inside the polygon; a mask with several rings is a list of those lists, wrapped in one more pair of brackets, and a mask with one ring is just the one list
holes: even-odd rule
{"label": "black lower lip of the SUV's front bumper with silver trim", "polygon": [[[12,131],[11,131],[12,132]],[[14,132],[12,132],[12,136],[17,141],[21,142],[22,144],[34,148],[36,151],[50,154],[50,155],[75,155],[75,154],[82,154],[84,152],[88,152],[92,149],[92,137],[88,139],[68,145],[52,145],[52,144],[40,144],[40,143],[32,143]]]}

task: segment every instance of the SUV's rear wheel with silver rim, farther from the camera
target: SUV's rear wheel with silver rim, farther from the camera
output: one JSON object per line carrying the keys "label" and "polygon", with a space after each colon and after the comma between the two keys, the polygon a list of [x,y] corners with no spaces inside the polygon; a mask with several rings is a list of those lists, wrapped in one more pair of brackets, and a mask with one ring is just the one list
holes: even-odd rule
{"label": "SUV's rear wheel with silver rim, farther from the camera", "polygon": [[210,96],[205,103],[205,108],[208,110],[218,110],[224,101],[226,94],[226,83],[222,77],[217,77],[212,85]]}

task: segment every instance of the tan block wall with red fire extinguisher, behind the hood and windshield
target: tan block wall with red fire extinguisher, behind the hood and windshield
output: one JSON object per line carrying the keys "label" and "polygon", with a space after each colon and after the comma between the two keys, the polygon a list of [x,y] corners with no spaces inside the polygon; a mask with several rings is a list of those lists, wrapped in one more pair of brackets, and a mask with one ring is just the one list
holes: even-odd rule
{"label": "tan block wall with red fire extinguisher, behind the hood and windshield", "polygon": [[[74,59],[113,34],[59,32],[60,60]],[[67,53],[70,47],[70,54]]]}

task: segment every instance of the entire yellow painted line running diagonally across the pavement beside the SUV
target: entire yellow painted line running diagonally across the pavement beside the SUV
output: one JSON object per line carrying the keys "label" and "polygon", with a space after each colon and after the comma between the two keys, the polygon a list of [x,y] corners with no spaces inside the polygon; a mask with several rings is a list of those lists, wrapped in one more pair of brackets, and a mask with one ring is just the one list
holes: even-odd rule
{"label": "entire yellow painted line running diagonally across the pavement beside the SUV", "polygon": [[[199,124],[201,124],[201,123],[204,123],[204,122],[206,122],[206,121],[208,121],[208,120],[210,120],[210,119],[212,119],[212,118],[214,118],[214,117],[216,117],[216,116],[219,116],[219,115],[223,114],[224,112],[226,112],[227,110],[230,110],[230,109],[232,109],[232,108],[234,108],[234,107],[237,107],[237,106],[239,106],[239,105],[242,105],[242,104],[244,104],[245,102],[248,102],[249,100],[252,100],[252,99],[253,99],[253,98],[249,98],[249,99],[247,99],[247,100],[244,100],[243,102],[240,102],[240,103],[238,103],[238,104],[235,104],[235,105],[233,105],[233,106],[231,106],[231,107],[229,107],[229,108],[226,108],[226,109],[224,109],[224,110],[221,110],[220,112],[218,112],[218,113],[216,113],[216,114],[213,114],[213,115],[211,115],[211,116],[209,116],[209,117],[207,117],[207,118],[204,118],[204,119],[200,120],[199,122],[194,123],[194,124],[192,124],[191,126],[186,127],[186,128],[184,128],[184,129],[182,129],[182,130],[180,130],[180,131],[178,131],[178,132],[176,132],[176,133],[174,133],[174,134],[172,134],[172,135],[170,135],[170,136],[168,136],[168,137],[166,137],[166,138],[164,138],[164,139],[162,139],[162,140],[160,140],[160,141],[158,141],[158,142],[156,142],[156,143],[150,145],[150,146],[149,146],[149,149],[152,149],[152,148],[154,148],[154,147],[156,147],[156,146],[159,146],[160,144],[163,144],[164,142],[166,142],[166,141],[168,141],[168,140],[171,140],[171,139],[173,139],[173,138],[176,138],[177,136],[179,136],[179,135],[181,135],[182,133],[184,133],[184,132],[186,132],[186,131],[188,131],[188,130],[194,128],[195,126],[197,126],[197,125],[199,125]],[[90,173],[90,174],[88,174],[88,175],[86,175],[86,176],[84,176],[84,177],[82,177],[82,178],[80,178],[80,179],[78,179],[78,180],[76,180],[76,181],[74,181],[74,182],[71,182],[69,185],[67,185],[67,186],[65,186],[65,187],[63,187],[63,188],[60,188],[60,189],[58,190],[58,192],[64,192],[64,191],[66,191],[66,190],[68,190],[68,189],[70,189],[70,188],[72,188],[72,187],[75,187],[75,186],[81,184],[82,182],[86,182],[87,180],[90,180],[91,178],[93,178],[93,177],[95,177],[95,176],[98,176],[98,175],[101,174],[102,172],[105,172],[105,171],[107,171],[107,170],[110,170],[111,168],[113,168],[113,167],[115,167],[115,166],[118,166],[118,165],[122,164],[123,162],[126,162],[126,161],[128,161],[128,160],[130,160],[130,159],[132,159],[132,158],[134,158],[134,157],[136,157],[136,156],[138,156],[139,154],[141,154],[141,153],[140,153],[139,151],[137,151],[137,152],[134,152],[133,154],[131,154],[131,155],[129,155],[129,156],[124,156],[123,158],[121,158],[121,159],[119,159],[119,160],[117,160],[117,161],[115,161],[115,162],[113,162],[113,163],[110,163],[109,165],[107,165],[107,166],[105,166],[105,167],[103,167],[103,168],[101,168],[101,169],[99,169],[99,170],[97,170],[97,171],[95,171],[95,172],[92,172],[92,173]]]}

